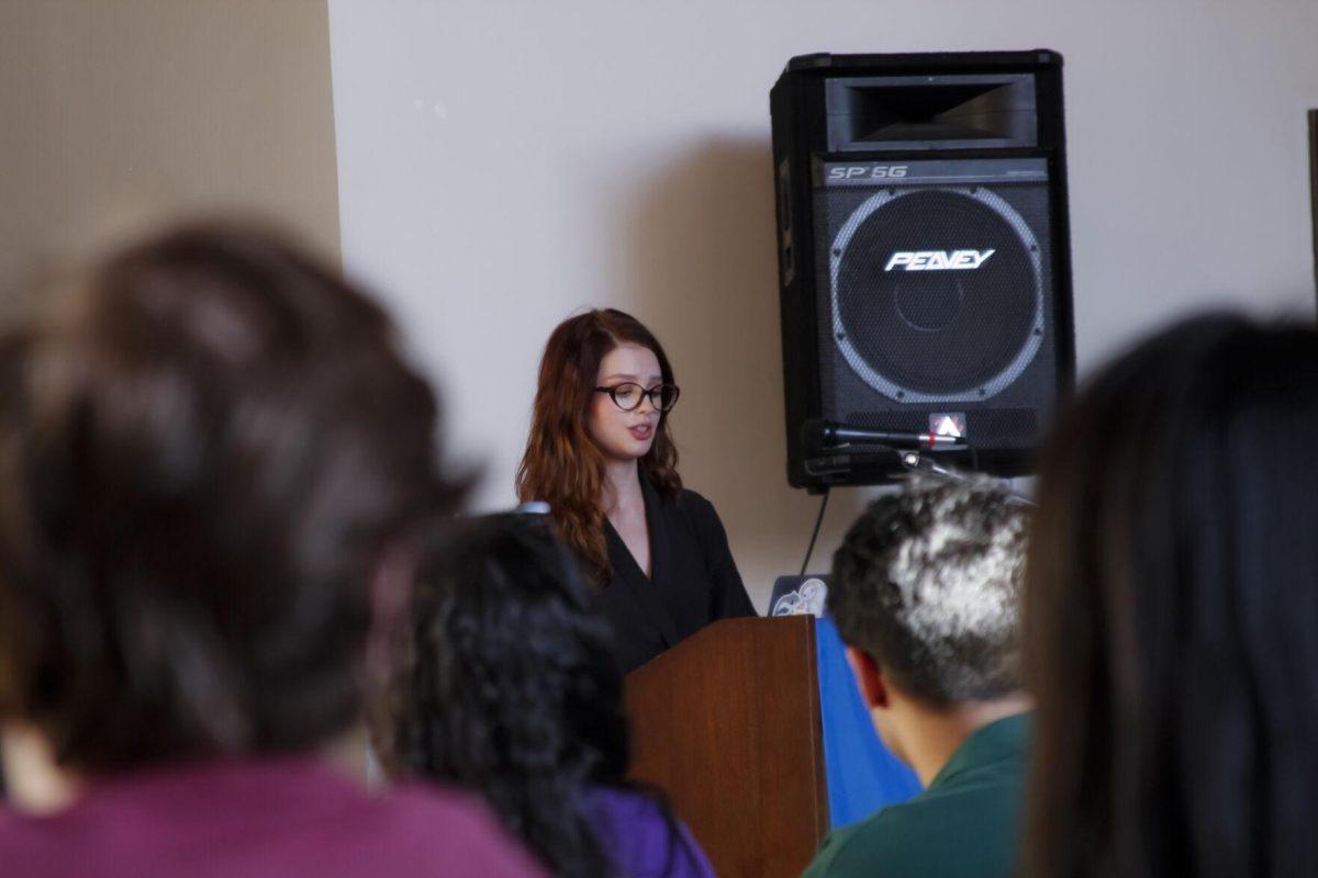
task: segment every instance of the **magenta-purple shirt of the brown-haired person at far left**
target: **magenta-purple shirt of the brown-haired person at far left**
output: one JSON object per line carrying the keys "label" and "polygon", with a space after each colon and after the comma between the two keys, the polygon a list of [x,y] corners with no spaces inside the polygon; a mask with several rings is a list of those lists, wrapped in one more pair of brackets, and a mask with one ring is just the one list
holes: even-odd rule
{"label": "magenta-purple shirt of the brown-haired person at far left", "polygon": [[540,875],[467,796],[373,798],[310,760],[171,766],[90,785],[67,810],[0,808],[12,878]]}

